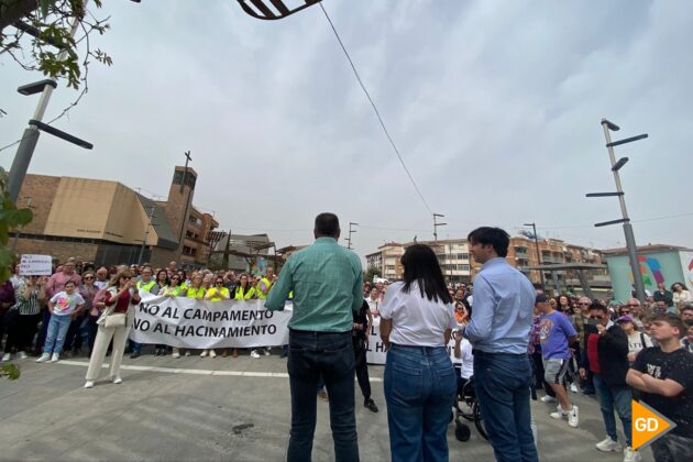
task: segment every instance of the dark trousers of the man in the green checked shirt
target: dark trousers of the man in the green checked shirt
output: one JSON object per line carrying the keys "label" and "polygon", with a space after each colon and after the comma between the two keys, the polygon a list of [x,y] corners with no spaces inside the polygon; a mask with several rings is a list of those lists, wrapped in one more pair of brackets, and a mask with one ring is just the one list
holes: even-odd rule
{"label": "dark trousers of the man in the green checked shirt", "polygon": [[324,381],[330,396],[330,427],[334,460],[359,461],[354,414],[354,350],[351,332],[289,331],[287,361],[292,388],[292,431],[288,462],[311,460],[316,430],[318,381]]}

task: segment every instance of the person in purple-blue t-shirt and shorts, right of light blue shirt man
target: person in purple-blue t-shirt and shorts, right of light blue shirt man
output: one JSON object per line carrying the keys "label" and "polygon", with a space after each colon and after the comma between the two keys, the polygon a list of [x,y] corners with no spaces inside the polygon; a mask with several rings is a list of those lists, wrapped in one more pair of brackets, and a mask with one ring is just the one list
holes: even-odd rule
{"label": "person in purple-blue t-shirt and shorts, right of light blue shirt man", "polygon": [[559,402],[551,418],[568,418],[568,425],[575,428],[580,425],[578,406],[570,402],[564,387],[564,378],[571,360],[569,344],[578,341],[578,332],[568,318],[553,309],[546,295],[538,295],[535,304],[541,311],[539,318],[539,341],[543,359],[544,381]]}

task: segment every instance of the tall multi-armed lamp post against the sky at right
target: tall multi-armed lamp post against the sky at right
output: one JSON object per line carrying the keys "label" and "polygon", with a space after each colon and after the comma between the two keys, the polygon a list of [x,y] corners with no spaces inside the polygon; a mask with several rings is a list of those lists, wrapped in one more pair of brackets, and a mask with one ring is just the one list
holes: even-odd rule
{"label": "tall multi-armed lamp post against the sky at right", "polygon": [[612,133],[620,130],[620,127],[617,124],[602,119],[602,129],[604,130],[604,139],[606,140],[606,150],[608,151],[608,158],[612,164],[612,172],[614,173],[614,183],[616,183],[616,193],[590,193],[587,197],[609,197],[616,196],[618,197],[618,202],[620,205],[620,215],[623,218],[618,220],[604,221],[601,223],[595,223],[595,227],[607,227],[609,224],[624,224],[624,234],[626,235],[626,248],[628,249],[628,258],[630,260],[630,272],[632,273],[632,282],[636,289],[636,297],[640,301],[645,301],[645,284],[642,283],[642,275],[640,274],[640,265],[638,264],[638,248],[636,246],[635,234],[632,233],[632,226],[630,224],[630,218],[628,217],[628,210],[626,209],[626,199],[624,194],[624,188],[620,184],[620,176],[618,175],[618,170],[626,165],[628,162],[628,157],[622,157],[616,161],[616,155],[614,154],[614,146],[619,146],[626,143],[632,143],[634,141],[645,140],[648,138],[647,133],[639,134],[637,136],[627,138],[625,140],[612,141]]}

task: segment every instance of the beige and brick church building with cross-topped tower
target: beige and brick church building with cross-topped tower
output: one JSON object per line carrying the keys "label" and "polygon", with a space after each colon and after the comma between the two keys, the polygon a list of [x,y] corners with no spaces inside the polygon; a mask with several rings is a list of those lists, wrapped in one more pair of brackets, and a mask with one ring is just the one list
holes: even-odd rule
{"label": "beige and brick church building with cross-topped tower", "polygon": [[175,167],[168,199],[154,201],[118,182],[28,175],[18,206],[31,204],[34,219],[11,233],[19,231],[16,253],[106,265],[206,264],[207,237],[219,224],[193,206],[196,180],[193,168]]}

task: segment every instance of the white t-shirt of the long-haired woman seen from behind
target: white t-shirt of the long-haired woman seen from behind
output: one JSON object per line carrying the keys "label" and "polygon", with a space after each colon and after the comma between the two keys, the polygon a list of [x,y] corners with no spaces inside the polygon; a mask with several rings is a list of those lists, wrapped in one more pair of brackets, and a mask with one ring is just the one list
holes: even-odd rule
{"label": "white t-shirt of the long-haired woman seen from behind", "polygon": [[403,287],[402,282],[391,284],[381,306],[381,317],[393,321],[389,341],[410,346],[444,346],[443,332],[458,324],[452,304],[429,300],[426,294],[421,297],[416,282],[408,294],[402,292]]}

